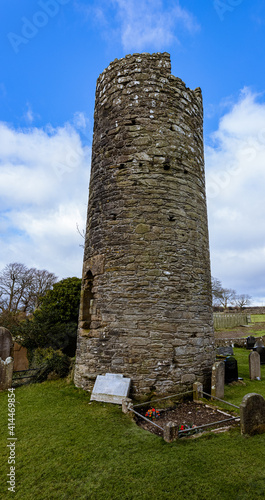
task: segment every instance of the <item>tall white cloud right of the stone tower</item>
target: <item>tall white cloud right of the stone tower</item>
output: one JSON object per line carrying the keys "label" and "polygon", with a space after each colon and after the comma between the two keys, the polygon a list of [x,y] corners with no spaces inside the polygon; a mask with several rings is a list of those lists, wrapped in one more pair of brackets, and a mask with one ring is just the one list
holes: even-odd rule
{"label": "tall white cloud right of the stone tower", "polygon": [[265,304],[265,103],[243,89],[206,146],[212,273]]}

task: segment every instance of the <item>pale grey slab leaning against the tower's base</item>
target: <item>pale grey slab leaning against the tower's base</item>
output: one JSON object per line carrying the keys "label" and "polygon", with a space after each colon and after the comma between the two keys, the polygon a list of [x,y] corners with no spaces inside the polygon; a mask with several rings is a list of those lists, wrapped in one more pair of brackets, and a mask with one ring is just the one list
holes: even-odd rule
{"label": "pale grey slab leaning against the tower's base", "polygon": [[130,378],[123,378],[122,373],[106,373],[98,375],[91,394],[90,401],[122,404],[128,397]]}

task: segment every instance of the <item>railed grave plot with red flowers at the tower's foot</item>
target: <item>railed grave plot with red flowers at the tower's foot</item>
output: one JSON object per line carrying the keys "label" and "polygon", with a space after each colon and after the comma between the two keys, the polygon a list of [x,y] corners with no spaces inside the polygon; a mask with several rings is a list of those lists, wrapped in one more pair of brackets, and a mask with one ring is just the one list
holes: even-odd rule
{"label": "railed grave plot with red flowers at the tower's foot", "polygon": [[169,422],[177,425],[179,438],[240,425],[239,415],[232,415],[202,401],[179,401],[168,408],[161,408],[159,402],[155,406],[149,402],[148,405],[134,406],[133,411],[137,425],[158,436],[164,435]]}

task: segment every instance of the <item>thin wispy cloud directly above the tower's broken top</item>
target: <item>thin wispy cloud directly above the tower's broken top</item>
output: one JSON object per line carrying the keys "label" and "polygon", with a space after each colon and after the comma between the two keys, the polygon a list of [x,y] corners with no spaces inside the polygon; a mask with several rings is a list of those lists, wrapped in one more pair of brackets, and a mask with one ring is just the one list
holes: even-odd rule
{"label": "thin wispy cloud directly above the tower's broken top", "polygon": [[120,39],[126,52],[165,50],[180,43],[182,30],[200,29],[195,17],[176,1],[168,6],[164,0],[97,0],[94,7],[79,1],[76,7],[86,20],[97,22],[109,43]]}

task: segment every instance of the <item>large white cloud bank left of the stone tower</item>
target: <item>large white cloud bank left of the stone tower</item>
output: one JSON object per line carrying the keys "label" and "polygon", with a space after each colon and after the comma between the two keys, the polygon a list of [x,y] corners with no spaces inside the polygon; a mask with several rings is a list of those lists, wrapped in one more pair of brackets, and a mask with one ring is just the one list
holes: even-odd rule
{"label": "large white cloud bank left of the stone tower", "polygon": [[16,130],[0,123],[0,268],[10,262],[81,275],[90,148],[70,124]]}

